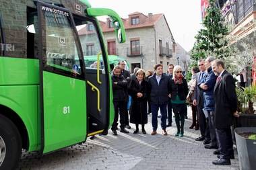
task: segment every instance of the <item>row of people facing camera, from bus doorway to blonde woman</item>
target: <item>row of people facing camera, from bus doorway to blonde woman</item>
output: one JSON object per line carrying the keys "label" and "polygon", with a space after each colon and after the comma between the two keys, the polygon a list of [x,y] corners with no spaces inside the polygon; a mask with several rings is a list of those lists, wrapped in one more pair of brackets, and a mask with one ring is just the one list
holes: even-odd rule
{"label": "row of people facing camera, from bus doorway to blonde woman", "polygon": [[[133,132],[146,134],[144,125],[148,123],[148,113],[152,113],[152,135],[157,134],[158,110],[160,109],[160,120],[162,134],[167,135],[166,127],[172,126],[172,110],[177,124],[177,134],[183,136],[185,114],[187,112],[187,81],[183,76],[182,68],[177,65],[168,65],[168,74],[163,73],[163,66],[157,64],[153,71],[143,71],[135,68],[133,75],[125,69],[125,62],[119,62],[114,67],[113,81],[113,103],[115,107],[115,119],[111,130],[117,135],[117,121],[120,115],[120,132],[129,133],[125,128],[131,128],[128,120],[135,124]],[[127,101],[131,96],[131,105],[127,108]],[[168,113],[168,116],[167,116]],[[168,123],[166,120],[168,117]]]}

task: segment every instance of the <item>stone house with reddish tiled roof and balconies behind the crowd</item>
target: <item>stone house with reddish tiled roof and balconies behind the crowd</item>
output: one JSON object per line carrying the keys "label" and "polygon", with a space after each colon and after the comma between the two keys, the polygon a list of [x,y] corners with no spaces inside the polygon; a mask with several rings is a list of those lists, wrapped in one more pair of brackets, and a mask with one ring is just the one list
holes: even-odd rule
{"label": "stone house with reddish tiled roof and balconies behind the crowd", "polygon": [[110,19],[100,22],[102,32],[108,47],[108,54],[122,56],[131,65],[131,72],[135,67],[153,70],[156,63],[164,65],[177,64],[176,43],[168,26],[164,14],[144,15],[135,12],[129,18],[123,19],[127,40],[123,44],[117,43]]}

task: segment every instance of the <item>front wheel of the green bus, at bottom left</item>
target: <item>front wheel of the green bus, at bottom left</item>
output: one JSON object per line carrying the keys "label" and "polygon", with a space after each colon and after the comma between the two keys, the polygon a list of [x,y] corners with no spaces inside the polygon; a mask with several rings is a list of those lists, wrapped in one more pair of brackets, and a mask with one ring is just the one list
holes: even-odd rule
{"label": "front wheel of the green bus, at bottom left", "polygon": [[22,140],[18,128],[0,114],[0,170],[15,169],[22,153]]}

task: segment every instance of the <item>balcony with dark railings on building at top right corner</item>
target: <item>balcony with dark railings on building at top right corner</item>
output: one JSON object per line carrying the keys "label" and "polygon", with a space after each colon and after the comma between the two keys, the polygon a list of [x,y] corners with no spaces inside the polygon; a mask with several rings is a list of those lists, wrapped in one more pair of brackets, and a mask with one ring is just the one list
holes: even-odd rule
{"label": "balcony with dark railings on building at top right corner", "polygon": [[235,15],[235,23],[241,22],[249,13],[256,10],[253,0],[237,0],[232,7]]}

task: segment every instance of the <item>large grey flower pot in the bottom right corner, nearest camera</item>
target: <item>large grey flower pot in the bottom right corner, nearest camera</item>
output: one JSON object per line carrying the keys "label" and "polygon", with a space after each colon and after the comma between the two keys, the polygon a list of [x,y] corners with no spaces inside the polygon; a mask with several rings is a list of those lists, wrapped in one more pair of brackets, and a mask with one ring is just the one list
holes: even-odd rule
{"label": "large grey flower pot in the bottom right corner, nearest camera", "polygon": [[255,170],[256,168],[256,140],[247,139],[240,135],[251,132],[256,133],[256,128],[235,128],[234,130],[241,170]]}

